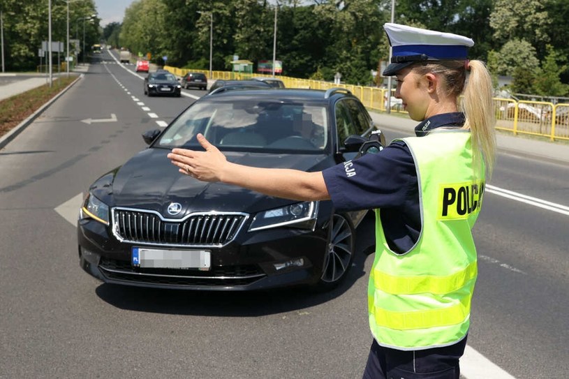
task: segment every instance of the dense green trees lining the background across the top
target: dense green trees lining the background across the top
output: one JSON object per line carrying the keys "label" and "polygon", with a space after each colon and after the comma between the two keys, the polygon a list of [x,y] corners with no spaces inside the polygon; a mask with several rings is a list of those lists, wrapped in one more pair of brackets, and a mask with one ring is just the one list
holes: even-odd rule
{"label": "dense green trees lining the background across the top", "polygon": [[[8,70],[34,69],[47,40],[45,0],[0,1]],[[66,0],[52,3],[52,39],[64,41]],[[103,38],[151,53],[158,64],[168,56],[172,66],[208,68],[212,38],[214,70],[230,69],[234,55],[270,61],[276,47],[284,75],[332,80],[341,73],[344,82],[372,84],[371,70],[390,51],[382,25],[391,0],[135,0],[121,24],[101,31],[98,19],[84,21],[95,13],[94,0],[69,5],[72,38],[82,40],[85,27],[86,47]],[[569,56],[568,17],[567,0],[397,0],[394,22],[471,37],[471,59],[487,61],[496,84],[498,75],[510,75],[519,88],[560,94],[569,81],[560,59]]]}

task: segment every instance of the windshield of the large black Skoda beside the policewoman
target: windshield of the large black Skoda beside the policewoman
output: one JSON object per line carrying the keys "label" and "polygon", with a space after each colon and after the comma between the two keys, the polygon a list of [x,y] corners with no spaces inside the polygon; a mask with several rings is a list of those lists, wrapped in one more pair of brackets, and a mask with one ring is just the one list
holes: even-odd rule
{"label": "windshield of the large black Skoda beside the policewoman", "polygon": [[202,133],[224,151],[322,153],[330,142],[324,105],[239,99],[200,101],[180,115],[154,147],[199,148]]}

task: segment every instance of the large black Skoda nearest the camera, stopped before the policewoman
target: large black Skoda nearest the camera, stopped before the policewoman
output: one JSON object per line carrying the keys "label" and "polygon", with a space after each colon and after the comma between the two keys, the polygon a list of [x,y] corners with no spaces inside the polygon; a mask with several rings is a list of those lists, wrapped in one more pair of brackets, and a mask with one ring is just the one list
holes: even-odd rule
{"label": "large black Skoda nearest the camera, stopped before the policewoman", "polygon": [[346,89],[202,96],[89,186],[77,221],[80,266],[106,283],[139,287],[331,290],[352,267],[367,211],[205,183],[180,174],[166,155],[202,149],[202,133],[228,161],[311,172],[353,159],[373,129]]}

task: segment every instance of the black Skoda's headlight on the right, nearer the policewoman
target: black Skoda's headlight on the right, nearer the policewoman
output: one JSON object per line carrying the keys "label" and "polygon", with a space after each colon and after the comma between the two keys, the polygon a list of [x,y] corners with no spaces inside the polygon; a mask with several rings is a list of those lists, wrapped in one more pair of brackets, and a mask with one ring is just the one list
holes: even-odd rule
{"label": "black Skoda's headlight on the right, nearer the policewoman", "polygon": [[249,227],[249,232],[269,228],[288,226],[313,230],[318,214],[318,202],[297,202],[286,207],[269,209],[256,214]]}

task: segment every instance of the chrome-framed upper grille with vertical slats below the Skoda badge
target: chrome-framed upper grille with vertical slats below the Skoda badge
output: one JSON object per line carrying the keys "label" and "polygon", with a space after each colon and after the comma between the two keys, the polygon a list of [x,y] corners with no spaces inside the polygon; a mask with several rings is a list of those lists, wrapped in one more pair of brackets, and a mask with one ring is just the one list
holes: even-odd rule
{"label": "chrome-framed upper grille with vertical slats below the Skoda badge", "polygon": [[112,230],[117,239],[137,244],[221,247],[235,239],[246,214],[200,213],[180,220],[154,211],[112,209]]}

